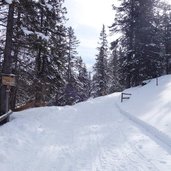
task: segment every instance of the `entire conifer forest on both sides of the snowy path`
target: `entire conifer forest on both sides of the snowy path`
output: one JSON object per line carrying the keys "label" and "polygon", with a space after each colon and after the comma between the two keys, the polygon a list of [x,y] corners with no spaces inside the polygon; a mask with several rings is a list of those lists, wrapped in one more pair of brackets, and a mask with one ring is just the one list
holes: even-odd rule
{"label": "entire conifer forest on both sides of the snowy path", "polygon": [[[91,78],[78,54],[74,29],[66,26],[64,0],[1,0],[0,71],[16,75],[10,108],[73,105],[170,74],[170,5],[159,0],[119,2],[113,5],[116,15],[109,27],[113,42],[109,46],[103,25]],[[1,84],[1,113],[7,88]]]}

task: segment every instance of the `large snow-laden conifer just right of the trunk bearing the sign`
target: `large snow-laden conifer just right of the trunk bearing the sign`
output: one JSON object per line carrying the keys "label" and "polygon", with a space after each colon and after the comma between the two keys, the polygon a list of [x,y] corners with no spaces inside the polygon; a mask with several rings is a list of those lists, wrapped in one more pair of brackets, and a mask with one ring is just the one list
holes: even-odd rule
{"label": "large snow-laden conifer just right of the trunk bearing the sign", "polygon": [[11,104],[15,106],[16,100],[22,104],[35,99],[36,106],[37,102],[49,101],[64,85],[66,9],[62,7],[63,0],[13,2],[11,66],[12,72],[18,75],[18,91],[11,89]]}

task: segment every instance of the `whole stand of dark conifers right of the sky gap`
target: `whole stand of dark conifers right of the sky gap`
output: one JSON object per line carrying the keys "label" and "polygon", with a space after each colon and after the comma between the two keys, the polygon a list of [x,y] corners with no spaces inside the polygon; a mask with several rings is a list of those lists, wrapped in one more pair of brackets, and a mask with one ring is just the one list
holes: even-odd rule
{"label": "whole stand of dark conifers right of the sky gap", "polygon": [[[171,73],[171,6],[159,0],[121,0],[108,47],[103,26],[94,65],[94,97]],[[117,36],[118,37],[118,36]]]}

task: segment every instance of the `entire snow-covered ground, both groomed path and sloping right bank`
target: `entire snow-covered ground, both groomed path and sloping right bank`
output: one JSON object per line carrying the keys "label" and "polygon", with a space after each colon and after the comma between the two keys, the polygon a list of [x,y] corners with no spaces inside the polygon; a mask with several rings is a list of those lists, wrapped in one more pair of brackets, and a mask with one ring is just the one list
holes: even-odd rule
{"label": "entire snow-covered ground, both groomed path and sloping right bank", "polygon": [[0,171],[170,171],[171,76],[125,92],[122,104],[115,93],[15,113],[0,127]]}

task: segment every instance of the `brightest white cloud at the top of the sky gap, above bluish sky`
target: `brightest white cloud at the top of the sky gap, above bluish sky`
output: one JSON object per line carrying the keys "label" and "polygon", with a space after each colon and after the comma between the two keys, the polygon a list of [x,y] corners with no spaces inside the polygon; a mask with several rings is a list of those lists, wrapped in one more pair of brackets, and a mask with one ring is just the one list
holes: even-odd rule
{"label": "brightest white cloud at the top of the sky gap, above bluish sky", "polygon": [[74,0],[77,3],[77,22],[97,28],[111,24],[113,0]]}

